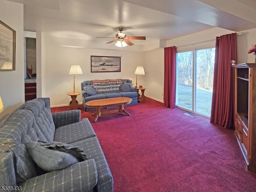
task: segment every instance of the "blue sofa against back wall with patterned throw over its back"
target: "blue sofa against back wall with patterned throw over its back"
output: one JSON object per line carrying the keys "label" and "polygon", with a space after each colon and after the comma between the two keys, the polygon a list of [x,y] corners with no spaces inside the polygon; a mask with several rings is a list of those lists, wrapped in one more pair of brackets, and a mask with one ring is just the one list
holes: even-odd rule
{"label": "blue sofa against back wall with patterned throw over its back", "polygon": [[[123,91],[120,90],[122,84],[128,84],[130,90]],[[88,87],[95,88],[95,94],[90,94],[88,92]],[[105,98],[115,98],[115,97],[129,97],[132,99],[130,104],[126,105],[136,105],[138,104],[138,93],[137,89],[132,86],[132,81],[129,79],[106,79],[106,80],[90,80],[84,81],[81,83],[82,96],[83,96],[83,105],[85,111],[95,110],[94,108],[88,108],[86,102],[96,99],[105,99]],[[126,106],[125,105],[125,106]]]}

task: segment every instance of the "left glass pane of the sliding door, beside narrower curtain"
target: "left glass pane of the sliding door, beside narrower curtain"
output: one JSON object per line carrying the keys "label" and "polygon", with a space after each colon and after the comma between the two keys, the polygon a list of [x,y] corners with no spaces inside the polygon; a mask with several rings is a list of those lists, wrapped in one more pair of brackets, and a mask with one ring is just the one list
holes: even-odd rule
{"label": "left glass pane of the sliding door, beside narrower curtain", "polygon": [[192,110],[193,52],[177,54],[176,105]]}

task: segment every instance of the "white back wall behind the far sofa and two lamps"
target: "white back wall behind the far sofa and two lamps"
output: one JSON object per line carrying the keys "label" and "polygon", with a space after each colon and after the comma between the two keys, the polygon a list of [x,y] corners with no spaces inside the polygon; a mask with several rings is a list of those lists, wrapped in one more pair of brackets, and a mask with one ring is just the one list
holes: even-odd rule
{"label": "white back wall behind the far sofa and two lamps", "polygon": [[[120,51],[95,50],[86,48],[74,48],[58,45],[45,46],[45,70],[46,78],[42,78],[45,84],[45,91],[42,96],[49,97],[51,106],[67,106],[71,98],[67,95],[73,91],[73,77],[69,75],[70,66],[79,64],[83,74],[76,76],[76,91],[81,92],[81,82],[93,79],[130,79],[133,86],[136,84],[135,69],[138,65],[144,66],[144,53],[122,51],[121,72],[91,72],[90,56],[121,56]],[[144,78],[139,78],[140,84],[144,83]],[[81,101],[82,95],[77,97]]]}

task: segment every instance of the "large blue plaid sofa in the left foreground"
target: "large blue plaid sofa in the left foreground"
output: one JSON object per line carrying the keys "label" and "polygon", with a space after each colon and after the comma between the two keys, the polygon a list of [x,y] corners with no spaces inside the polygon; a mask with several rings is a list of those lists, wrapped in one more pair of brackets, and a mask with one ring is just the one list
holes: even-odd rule
{"label": "large blue plaid sofa in the left foreground", "polygon": [[[49,98],[22,104],[0,122],[0,188],[24,192],[113,192],[113,177],[87,118],[80,110],[51,113]],[[89,160],[64,169],[39,172],[26,143],[43,140],[70,144]]]}

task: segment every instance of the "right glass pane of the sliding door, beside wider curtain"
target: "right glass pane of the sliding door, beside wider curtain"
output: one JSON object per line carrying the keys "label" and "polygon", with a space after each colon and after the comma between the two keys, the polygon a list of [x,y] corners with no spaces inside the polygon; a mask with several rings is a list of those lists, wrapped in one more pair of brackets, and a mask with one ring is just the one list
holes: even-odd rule
{"label": "right glass pane of the sliding door, beside wider curtain", "polygon": [[196,50],[195,112],[210,116],[215,48]]}

